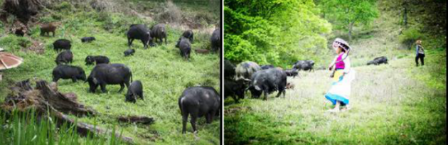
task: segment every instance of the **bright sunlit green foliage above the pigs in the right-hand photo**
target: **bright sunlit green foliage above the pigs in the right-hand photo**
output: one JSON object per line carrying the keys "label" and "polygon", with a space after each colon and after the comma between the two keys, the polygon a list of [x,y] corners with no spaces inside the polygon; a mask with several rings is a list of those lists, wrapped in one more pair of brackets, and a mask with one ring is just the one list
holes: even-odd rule
{"label": "bright sunlit green foliage above the pigs in the right-hand photo", "polygon": [[[313,1],[225,1],[225,59],[286,67],[326,48],[331,25]],[[319,60],[316,60],[319,61]],[[289,68],[289,66],[288,66]]]}

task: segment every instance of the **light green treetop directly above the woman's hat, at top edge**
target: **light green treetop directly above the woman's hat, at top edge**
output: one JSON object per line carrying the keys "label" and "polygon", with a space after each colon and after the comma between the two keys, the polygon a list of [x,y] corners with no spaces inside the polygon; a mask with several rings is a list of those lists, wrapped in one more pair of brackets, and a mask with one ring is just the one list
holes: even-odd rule
{"label": "light green treetop directly above the woman's hat, at top edge", "polygon": [[325,18],[336,24],[336,28],[348,31],[351,40],[353,26],[368,24],[378,17],[375,0],[319,0]]}

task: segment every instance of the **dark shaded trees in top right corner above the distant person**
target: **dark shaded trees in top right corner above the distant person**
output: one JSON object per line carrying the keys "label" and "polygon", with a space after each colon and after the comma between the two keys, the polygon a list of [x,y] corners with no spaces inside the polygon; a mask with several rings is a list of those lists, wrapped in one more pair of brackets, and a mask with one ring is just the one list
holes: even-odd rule
{"label": "dark shaded trees in top right corner above the distant person", "polygon": [[412,48],[417,39],[422,39],[426,48],[447,48],[447,1],[446,0],[397,0],[380,1],[386,9],[400,17],[402,26],[400,42]]}

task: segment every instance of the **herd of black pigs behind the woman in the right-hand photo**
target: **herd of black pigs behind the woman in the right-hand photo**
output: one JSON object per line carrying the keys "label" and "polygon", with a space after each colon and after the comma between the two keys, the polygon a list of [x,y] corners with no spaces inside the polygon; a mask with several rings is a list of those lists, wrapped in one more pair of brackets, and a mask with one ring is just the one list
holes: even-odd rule
{"label": "herd of black pigs behind the woman in the right-hand photo", "polygon": [[[388,64],[388,58],[381,56],[371,60],[367,65]],[[252,98],[267,100],[267,95],[278,91],[277,97],[286,94],[287,88],[294,87],[294,84],[287,82],[287,76],[296,77],[299,70],[313,69],[313,60],[298,60],[292,64],[292,69],[282,69],[274,65],[258,65],[252,61],[239,63],[236,67],[229,60],[224,60],[224,97],[232,97],[235,102],[244,99],[245,92],[250,91]]]}

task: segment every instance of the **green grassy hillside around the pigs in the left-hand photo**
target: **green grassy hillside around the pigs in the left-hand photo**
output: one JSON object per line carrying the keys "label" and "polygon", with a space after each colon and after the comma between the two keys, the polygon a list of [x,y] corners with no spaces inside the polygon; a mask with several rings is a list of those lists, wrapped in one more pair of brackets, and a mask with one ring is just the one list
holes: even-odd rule
{"label": "green grassy hillside around the pigs in the left-hand photo", "polygon": [[[97,93],[92,94],[87,92],[87,83],[59,80],[60,92],[75,92],[82,104],[99,112],[97,117],[83,117],[79,118],[79,121],[91,124],[97,122],[98,126],[109,129],[117,126],[117,131],[122,130],[125,136],[132,137],[137,144],[219,144],[219,119],[212,124],[205,124],[205,119],[199,119],[197,135],[191,133],[190,124],[188,133],[181,134],[181,112],[177,104],[178,97],[186,87],[207,85],[214,87],[218,92],[220,90],[218,55],[194,53],[196,48],[209,47],[211,33],[202,29],[193,30],[195,41],[190,61],[181,58],[178,48],[174,47],[183,30],[171,27],[169,24],[168,45],[157,45],[144,50],[142,43],[136,40],[132,46],[136,49],[135,55],[125,58],[123,51],[128,47],[124,32],[129,28],[129,24],[146,23],[151,26],[156,21],[85,9],[85,6],[63,2],[55,5],[53,9],[45,10],[50,12],[44,12],[39,21],[63,22],[55,37],[39,36],[38,26],[33,26],[31,36],[21,38],[9,34],[0,38],[1,48],[24,59],[24,63],[18,68],[2,72],[4,80],[0,82],[0,100],[4,100],[9,92],[8,86],[13,82],[28,78],[50,81],[57,55],[53,51],[52,43],[59,38],[66,38],[72,41],[73,45],[74,61],[71,65],[80,66],[88,75],[94,66],[86,66],[85,57],[106,55],[111,63],[123,63],[131,68],[133,80],[141,80],[144,87],[145,100],[138,100],[136,104],[132,104],[124,102],[126,90],[122,93],[117,92],[119,85],[107,85],[107,93],[100,93],[97,90]],[[213,28],[205,26],[203,29],[210,27]],[[94,36],[97,40],[92,43],[81,43],[80,38],[85,36]],[[38,45],[33,45],[33,42],[42,43],[44,50],[42,54],[28,49],[39,48]],[[156,122],[149,126],[117,123],[117,117],[127,115],[154,117]]]}

